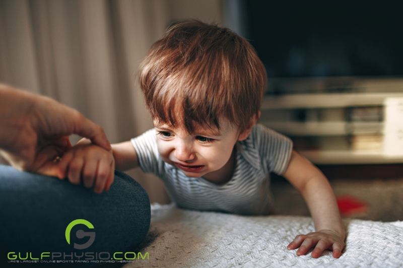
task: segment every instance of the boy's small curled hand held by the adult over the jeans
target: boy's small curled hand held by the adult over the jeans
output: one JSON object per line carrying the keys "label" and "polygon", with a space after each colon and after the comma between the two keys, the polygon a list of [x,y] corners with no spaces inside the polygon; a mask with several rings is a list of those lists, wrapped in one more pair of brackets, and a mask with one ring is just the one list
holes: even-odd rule
{"label": "boy's small curled hand held by the adult over the jeans", "polygon": [[73,184],[94,187],[96,193],[108,190],[113,182],[115,161],[112,150],[93,145],[89,140],[81,140],[67,150],[58,163],[48,161],[36,172],[60,179],[67,177]]}

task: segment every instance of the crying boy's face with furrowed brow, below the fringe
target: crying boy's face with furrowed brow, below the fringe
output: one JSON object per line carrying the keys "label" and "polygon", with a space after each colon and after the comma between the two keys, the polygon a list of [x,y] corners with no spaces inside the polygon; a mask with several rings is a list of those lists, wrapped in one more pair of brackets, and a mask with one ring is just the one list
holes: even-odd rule
{"label": "crying boy's face with furrowed brow, below the fringe", "polygon": [[154,125],[162,159],[186,176],[219,182],[220,176],[232,172],[235,163],[232,152],[240,135],[228,120],[220,121],[220,130],[199,127],[194,135],[189,135],[182,127],[157,125],[156,121]]}

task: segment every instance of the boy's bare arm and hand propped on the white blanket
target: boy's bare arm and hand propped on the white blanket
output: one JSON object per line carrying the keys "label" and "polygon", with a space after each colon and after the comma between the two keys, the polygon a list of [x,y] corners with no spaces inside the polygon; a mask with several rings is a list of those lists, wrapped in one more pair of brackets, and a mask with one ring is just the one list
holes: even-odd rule
{"label": "boy's bare arm and hand propped on the white blanket", "polygon": [[297,255],[303,255],[311,247],[315,247],[311,254],[314,258],[330,249],[333,257],[340,257],[345,246],[345,230],[333,190],[326,177],[295,151],[292,152],[283,176],[301,192],[316,229],[314,233],[298,235],[287,248],[299,247]]}

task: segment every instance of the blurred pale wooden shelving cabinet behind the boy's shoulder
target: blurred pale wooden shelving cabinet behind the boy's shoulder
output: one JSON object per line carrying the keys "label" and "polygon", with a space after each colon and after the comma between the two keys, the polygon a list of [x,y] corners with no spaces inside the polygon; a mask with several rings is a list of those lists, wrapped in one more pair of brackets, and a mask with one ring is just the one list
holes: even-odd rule
{"label": "blurred pale wooden shelving cabinet behind the boy's shoulder", "polygon": [[[400,98],[401,107],[393,109],[401,118],[387,115],[387,103]],[[315,164],[403,163],[402,78],[274,79],[261,112],[260,123],[289,136]],[[394,153],[390,144],[396,144]]]}

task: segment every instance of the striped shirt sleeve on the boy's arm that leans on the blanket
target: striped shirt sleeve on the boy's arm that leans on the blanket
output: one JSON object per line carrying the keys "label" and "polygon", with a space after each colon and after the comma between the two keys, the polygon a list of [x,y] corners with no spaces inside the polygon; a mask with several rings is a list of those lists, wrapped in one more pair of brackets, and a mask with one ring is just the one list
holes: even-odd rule
{"label": "striped shirt sleeve on the boy's arm that leans on the blanket", "polygon": [[288,166],[293,143],[290,138],[262,125],[256,125],[252,134],[258,144],[263,166],[268,172],[282,175]]}

